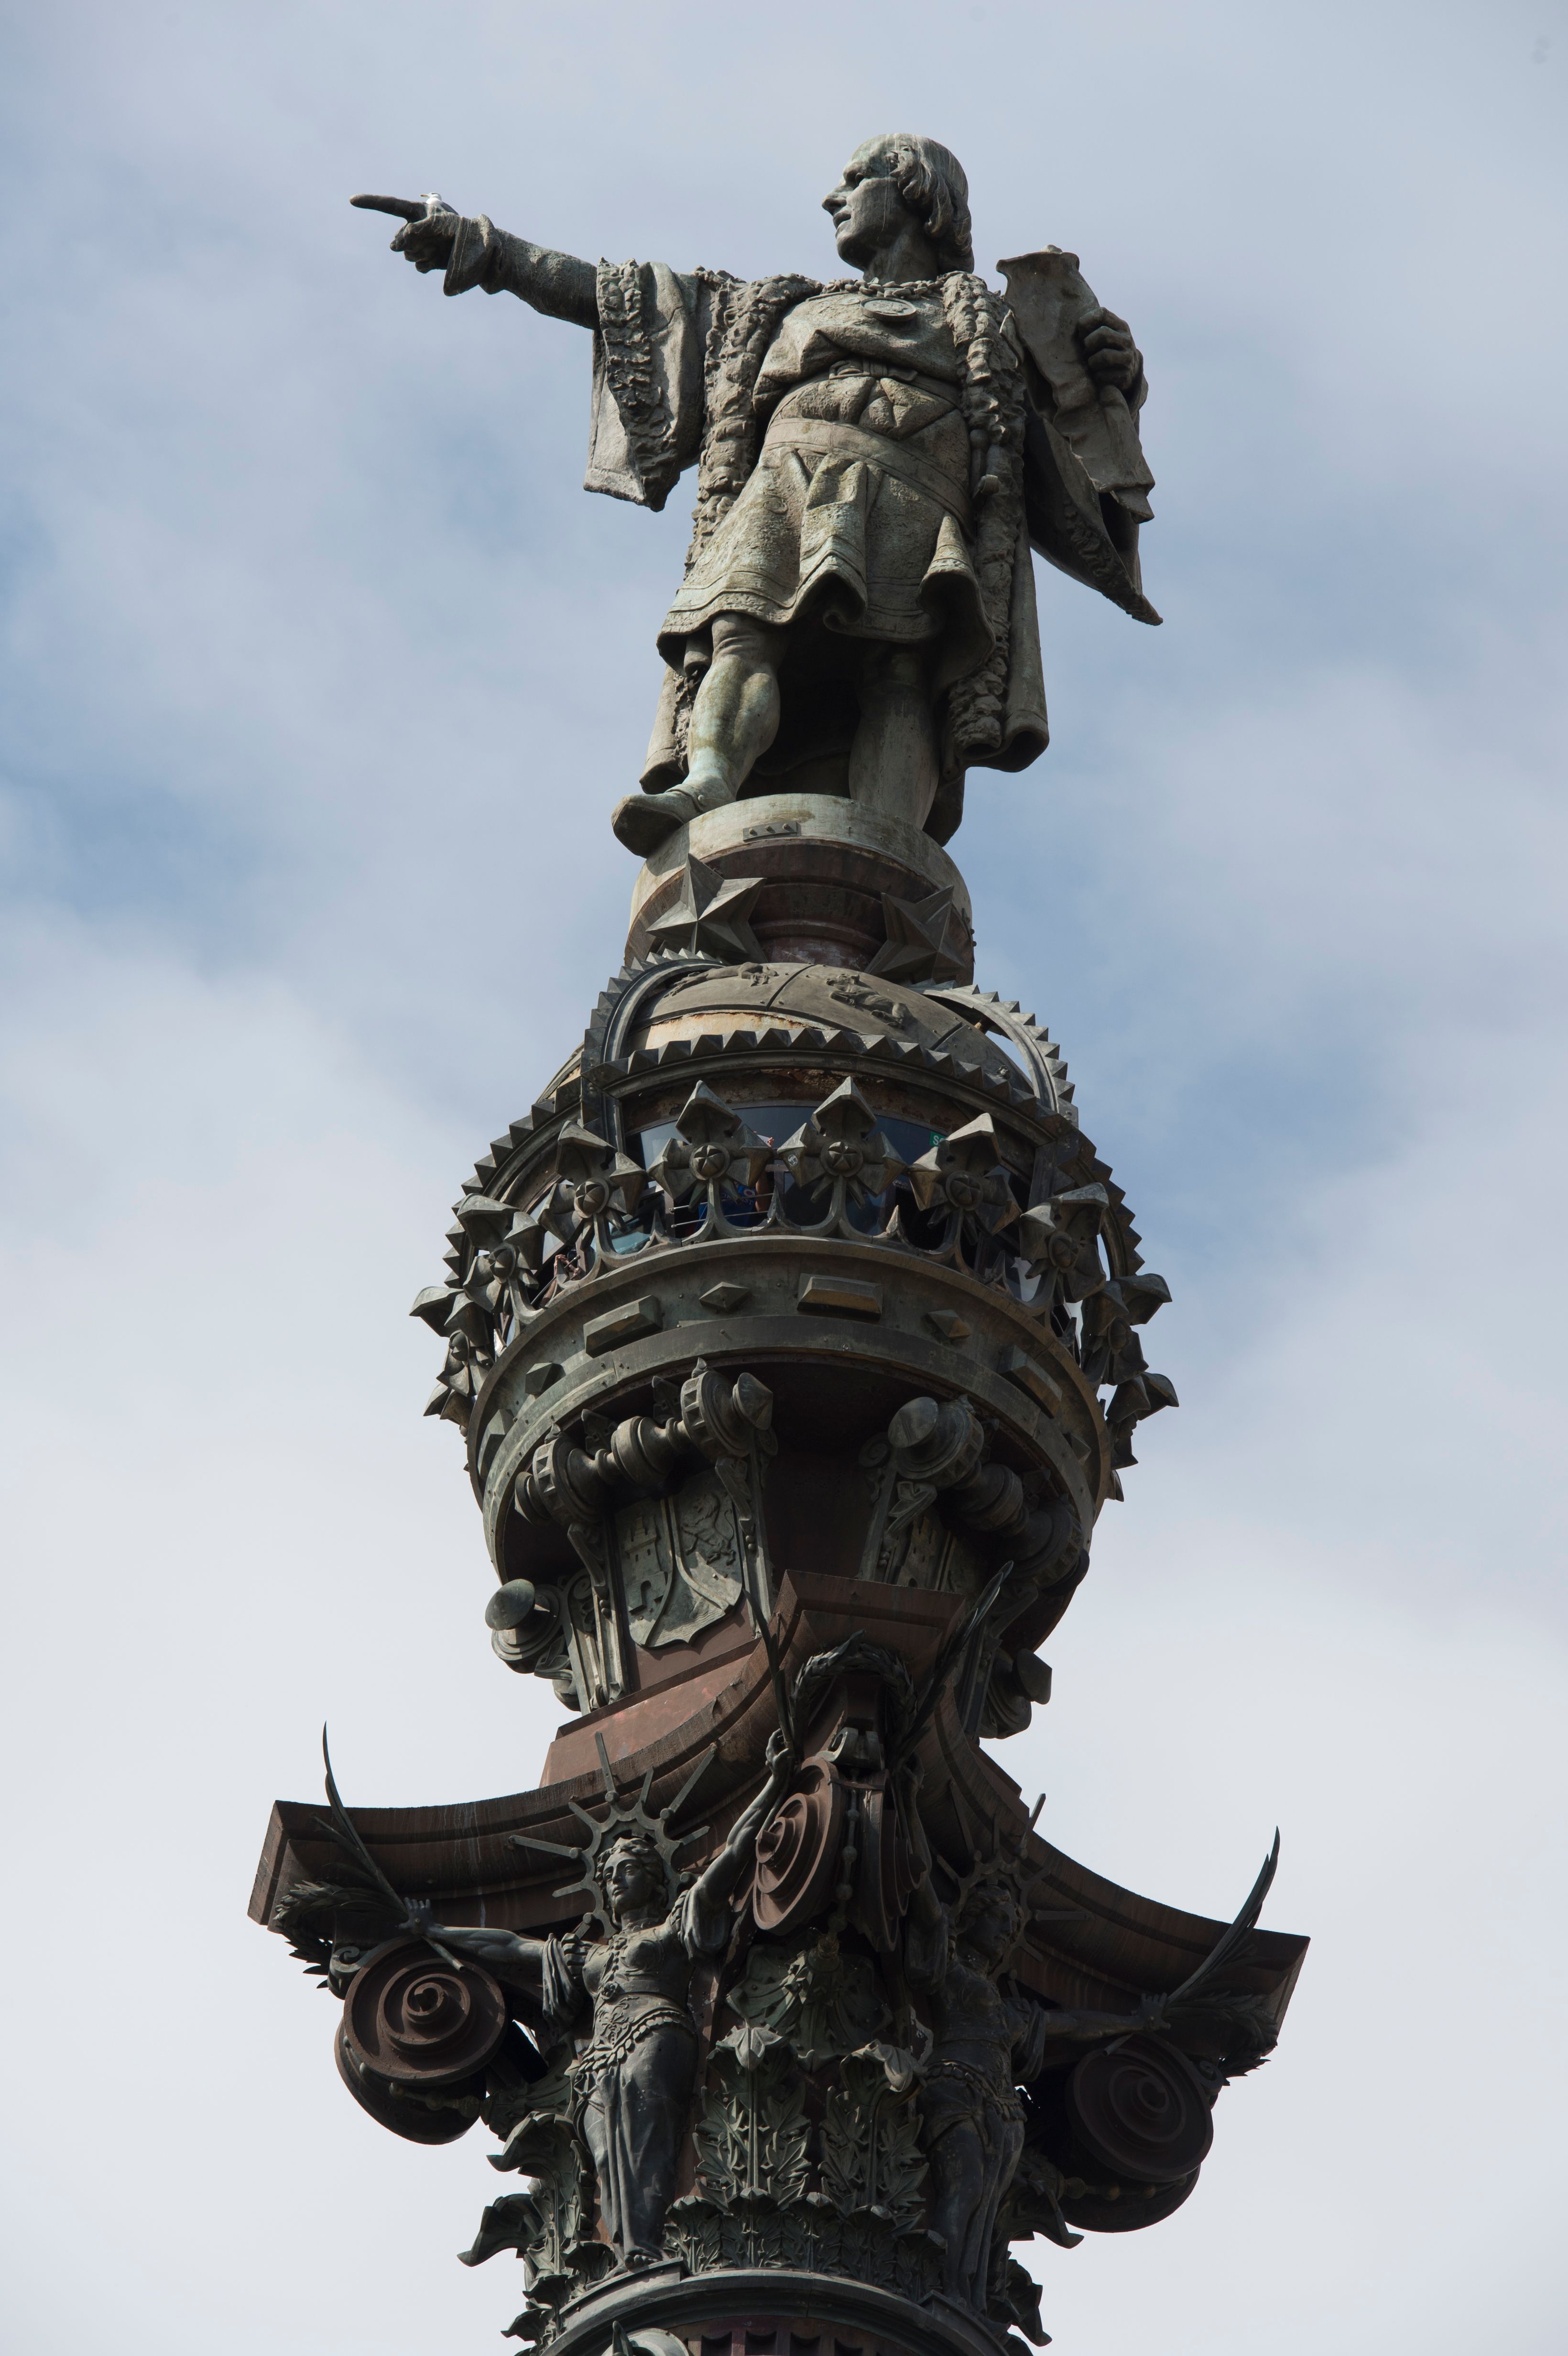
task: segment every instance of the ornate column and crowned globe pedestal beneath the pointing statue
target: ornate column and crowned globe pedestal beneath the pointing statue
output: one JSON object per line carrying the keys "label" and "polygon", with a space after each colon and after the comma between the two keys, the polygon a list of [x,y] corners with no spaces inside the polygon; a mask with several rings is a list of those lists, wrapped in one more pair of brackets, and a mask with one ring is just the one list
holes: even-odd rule
{"label": "ornate column and crowned globe pedestal beneath the pointing statue", "polygon": [[1187,2201],[1302,1963],[1271,1861],[1229,1927],[1116,1890],[982,1748],[1048,1706],[1175,1388],[970,945],[895,820],[697,820],[414,1301],[490,1644],[565,1725],[534,1791],[280,1802],[252,1911],[344,1998],[365,2111],[490,2132],[469,2262],[523,2257],[513,2330],[570,2356],[1038,2342],[1012,2245]]}

